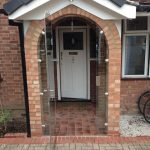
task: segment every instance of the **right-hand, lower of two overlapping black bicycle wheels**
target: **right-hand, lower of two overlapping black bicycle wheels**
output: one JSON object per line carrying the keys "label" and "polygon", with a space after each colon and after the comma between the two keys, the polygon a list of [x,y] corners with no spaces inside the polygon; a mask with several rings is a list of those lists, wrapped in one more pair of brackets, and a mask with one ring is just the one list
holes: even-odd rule
{"label": "right-hand, lower of two overlapping black bicycle wheels", "polygon": [[144,110],[143,110],[144,118],[145,120],[150,123],[150,99],[147,100],[147,102],[144,105]]}

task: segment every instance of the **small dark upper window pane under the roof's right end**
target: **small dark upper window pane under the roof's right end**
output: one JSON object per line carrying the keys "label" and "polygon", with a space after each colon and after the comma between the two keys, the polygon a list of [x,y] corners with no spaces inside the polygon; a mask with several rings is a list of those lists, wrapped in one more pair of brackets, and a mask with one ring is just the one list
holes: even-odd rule
{"label": "small dark upper window pane under the roof's right end", "polygon": [[127,31],[147,30],[147,17],[137,17],[133,20],[127,20]]}

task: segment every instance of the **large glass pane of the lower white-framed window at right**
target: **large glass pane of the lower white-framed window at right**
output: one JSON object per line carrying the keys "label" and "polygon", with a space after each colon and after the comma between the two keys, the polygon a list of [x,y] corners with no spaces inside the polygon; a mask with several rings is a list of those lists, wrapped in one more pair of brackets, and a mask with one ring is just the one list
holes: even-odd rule
{"label": "large glass pane of the lower white-framed window at right", "polygon": [[144,75],[146,36],[126,36],[125,75]]}

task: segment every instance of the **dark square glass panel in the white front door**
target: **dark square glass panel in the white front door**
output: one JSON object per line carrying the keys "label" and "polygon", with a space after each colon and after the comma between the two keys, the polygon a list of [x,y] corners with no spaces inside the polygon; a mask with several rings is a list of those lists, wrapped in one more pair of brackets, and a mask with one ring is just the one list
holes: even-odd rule
{"label": "dark square glass panel in the white front door", "polygon": [[64,32],[64,50],[83,50],[83,32]]}

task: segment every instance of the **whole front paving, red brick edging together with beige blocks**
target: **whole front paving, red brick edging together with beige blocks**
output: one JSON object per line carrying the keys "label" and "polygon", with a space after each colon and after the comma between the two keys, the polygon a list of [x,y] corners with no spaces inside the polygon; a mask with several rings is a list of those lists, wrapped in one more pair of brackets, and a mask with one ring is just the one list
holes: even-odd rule
{"label": "whole front paving, red brick edging together with beige blocks", "polygon": [[[150,137],[3,138],[0,150],[150,150]],[[51,144],[50,144],[51,143]]]}

